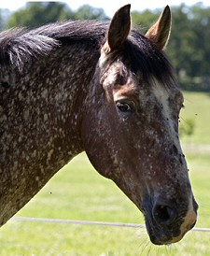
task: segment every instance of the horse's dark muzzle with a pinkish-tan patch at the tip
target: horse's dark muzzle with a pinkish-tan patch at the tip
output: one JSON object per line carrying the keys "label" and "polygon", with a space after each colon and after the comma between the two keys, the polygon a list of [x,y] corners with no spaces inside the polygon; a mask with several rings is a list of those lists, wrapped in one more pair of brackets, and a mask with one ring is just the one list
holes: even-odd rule
{"label": "horse's dark muzzle with a pinkish-tan patch at the tip", "polygon": [[143,208],[147,233],[155,245],[178,242],[196,223],[198,205],[194,198],[189,203],[176,204],[160,197],[153,204],[151,202],[148,200]]}

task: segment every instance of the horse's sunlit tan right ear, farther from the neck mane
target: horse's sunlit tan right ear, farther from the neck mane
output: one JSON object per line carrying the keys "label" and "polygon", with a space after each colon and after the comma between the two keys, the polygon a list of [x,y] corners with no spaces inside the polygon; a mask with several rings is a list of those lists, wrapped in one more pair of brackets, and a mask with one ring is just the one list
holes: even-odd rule
{"label": "horse's sunlit tan right ear, farther from the neck mane", "polygon": [[167,45],[172,26],[170,7],[165,7],[159,20],[147,31],[146,37],[154,42],[159,49]]}

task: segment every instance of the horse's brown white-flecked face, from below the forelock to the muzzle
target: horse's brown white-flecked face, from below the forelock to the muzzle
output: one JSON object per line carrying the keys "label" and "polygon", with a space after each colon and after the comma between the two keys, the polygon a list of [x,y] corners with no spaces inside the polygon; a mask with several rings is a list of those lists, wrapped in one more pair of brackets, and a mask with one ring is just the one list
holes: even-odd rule
{"label": "horse's brown white-flecked face, from below the forelock to the muzzle", "polygon": [[[125,17],[128,7],[115,15],[109,36],[120,12]],[[164,22],[165,15],[168,9],[161,16]],[[167,37],[156,41],[160,48]],[[152,34],[150,39],[157,38]],[[193,227],[197,216],[178,139],[183,95],[175,85],[164,86],[156,78],[148,84],[141,70],[133,72],[131,64],[115,51],[115,45],[122,43],[122,37],[120,43],[108,38],[102,49],[100,71],[94,78],[100,86],[89,99],[89,107],[94,104],[95,109],[90,108],[83,126],[86,134],[90,129],[84,137],[85,148],[94,167],[113,179],[144,213],[151,241],[174,243]]]}

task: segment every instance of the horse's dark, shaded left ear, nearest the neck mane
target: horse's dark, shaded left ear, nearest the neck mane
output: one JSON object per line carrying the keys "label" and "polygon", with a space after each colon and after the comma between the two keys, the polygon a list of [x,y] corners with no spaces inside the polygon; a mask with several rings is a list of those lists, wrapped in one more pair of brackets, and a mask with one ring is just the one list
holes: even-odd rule
{"label": "horse's dark, shaded left ear, nearest the neck mane", "polygon": [[119,49],[127,39],[131,30],[130,8],[131,5],[119,8],[112,18],[106,38],[106,52]]}

